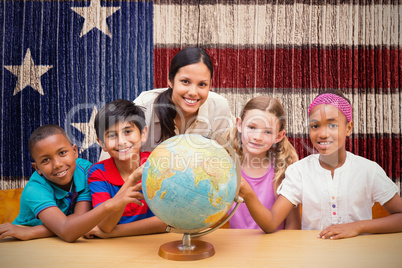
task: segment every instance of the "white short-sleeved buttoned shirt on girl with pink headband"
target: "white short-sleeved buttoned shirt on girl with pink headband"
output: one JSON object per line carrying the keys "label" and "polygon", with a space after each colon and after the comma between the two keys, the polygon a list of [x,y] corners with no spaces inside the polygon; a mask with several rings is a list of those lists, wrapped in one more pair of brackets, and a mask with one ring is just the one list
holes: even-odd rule
{"label": "white short-sleeved buttoned shirt on girl with pink headband", "polygon": [[320,165],[319,154],[290,165],[277,191],[292,204],[303,205],[302,230],[372,219],[374,202],[383,205],[398,192],[377,163],[350,152],[333,178]]}

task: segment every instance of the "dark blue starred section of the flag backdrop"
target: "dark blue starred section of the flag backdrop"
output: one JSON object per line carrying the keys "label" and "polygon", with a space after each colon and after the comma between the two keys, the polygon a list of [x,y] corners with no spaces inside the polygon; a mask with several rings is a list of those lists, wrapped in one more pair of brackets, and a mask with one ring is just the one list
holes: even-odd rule
{"label": "dark blue starred section of the flag backdrop", "polygon": [[152,2],[0,2],[0,189],[29,179],[40,125],[60,125],[80,157],[98,159],[96,112],[152,88],[152,14]]}

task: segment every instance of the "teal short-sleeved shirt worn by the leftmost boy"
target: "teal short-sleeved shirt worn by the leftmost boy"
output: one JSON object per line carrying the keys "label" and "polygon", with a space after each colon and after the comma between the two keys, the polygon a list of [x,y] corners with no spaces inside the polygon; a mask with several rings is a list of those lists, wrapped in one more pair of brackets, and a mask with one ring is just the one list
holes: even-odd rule
{"label": "teal short-sleeved shirt worn by the leftmost boy", "polygon": [[[20,212],[13,224],[41,225],[43,223],[38,219],[38,214],[44,209],[58,207],[64,214],[68,215],[74,212],[74,206],[77,202],[91,202],[87,174],[92,164],[81,158],[78,158],[75,162],[76,168],[71,187],[73,190],[71,192],[60,189],[35,171],[22,191]],[[71,204],[72,196],[75,196],[75,193],[76,199]]]}

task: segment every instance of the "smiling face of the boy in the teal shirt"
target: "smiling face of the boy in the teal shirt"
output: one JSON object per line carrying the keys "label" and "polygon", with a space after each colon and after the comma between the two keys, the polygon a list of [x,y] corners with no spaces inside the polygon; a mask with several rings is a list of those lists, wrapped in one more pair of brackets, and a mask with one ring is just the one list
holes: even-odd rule
{"label": "smiling face of the boy in the teal shirt", "polygon": [[77,146],[71,145],[63,134],[51,135],[38,141],[31,152],[35,170],[53,184],[70,190],[78,158]]}

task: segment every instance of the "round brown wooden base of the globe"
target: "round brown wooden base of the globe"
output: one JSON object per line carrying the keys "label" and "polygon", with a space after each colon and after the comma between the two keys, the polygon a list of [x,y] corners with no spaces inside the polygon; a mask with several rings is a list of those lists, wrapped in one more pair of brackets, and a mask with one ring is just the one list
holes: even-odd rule
{"label": "round brown wooden base of the globe", "polygon": [[179,247],[182,241],[172,241],[163,244],[159,247],[159,256],[168,260],[174,261],[195,261],[209,258],[215,254],[214,246],[205,241],[194,240],[191,245],[194,249],[183,250]]}

